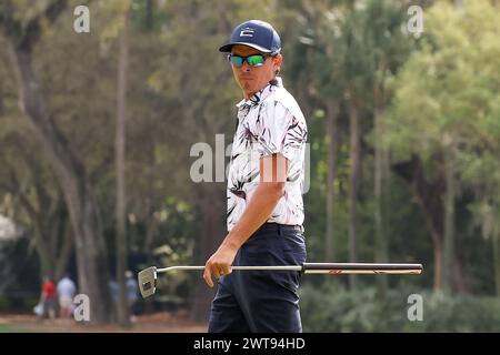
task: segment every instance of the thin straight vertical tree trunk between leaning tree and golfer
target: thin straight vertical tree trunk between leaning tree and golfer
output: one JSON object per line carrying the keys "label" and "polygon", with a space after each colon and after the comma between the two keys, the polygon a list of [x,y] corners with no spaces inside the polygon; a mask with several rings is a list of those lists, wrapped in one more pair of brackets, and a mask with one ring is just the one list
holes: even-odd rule
{"label": "thin straight vertical tree trunk between leaning tree and golfer", "polygon": [[128,71],[128,41],[129,11],[124,13],[124,24],[120,32],[118,58],[118,95],[117,95],[117,132],[116,132],[116,161],[117,161],[117,282],[119,285],[118,322],[130,326],[129,302],[127,296],[127,222],[126,222],[126,125],[127,125],[127,71]]}

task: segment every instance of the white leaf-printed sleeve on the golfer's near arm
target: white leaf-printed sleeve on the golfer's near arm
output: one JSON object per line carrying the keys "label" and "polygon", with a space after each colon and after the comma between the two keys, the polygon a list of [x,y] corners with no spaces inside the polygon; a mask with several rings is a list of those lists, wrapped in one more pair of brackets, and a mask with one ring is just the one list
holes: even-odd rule
{"label": "white leaf-printed sleeve on the golfer's near arm", "polygon": [[296,118],[279,101],[266,102],[261,105],[257,132],[260,158],[281,153],[293,161],[307,140],[306,122]]}

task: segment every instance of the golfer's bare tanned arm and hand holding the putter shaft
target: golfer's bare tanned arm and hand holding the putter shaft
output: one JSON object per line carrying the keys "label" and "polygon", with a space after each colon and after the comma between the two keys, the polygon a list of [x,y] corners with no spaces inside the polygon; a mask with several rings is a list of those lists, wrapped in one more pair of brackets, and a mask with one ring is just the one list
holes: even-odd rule
{"label": "golfer's bare tanned arm and hand holding the putter shaft", "polygon": [[241,219],[232,227],[217,252],[204,265],[203,278],[213,287],[212,275],[219,278],[231,273],[231,264],[238,250],[269,220],[284,193],[289,161],[281,154],[260,160],[260,182]]}

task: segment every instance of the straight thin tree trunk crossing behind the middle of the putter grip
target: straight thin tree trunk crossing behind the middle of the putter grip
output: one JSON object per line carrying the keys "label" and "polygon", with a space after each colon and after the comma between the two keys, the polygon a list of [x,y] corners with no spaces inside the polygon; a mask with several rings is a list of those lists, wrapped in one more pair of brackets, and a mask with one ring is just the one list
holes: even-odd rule
{"label": "straight thin tree trunk crossing behind the middle of the putter grip", "polygon": [[[357,257],[357,203],[358,184],[360,171],[360,136],[359,136],[359,116],[356,99],[351,95],[349,100],[349,128],[350,128],[350,184],[349,184],[349,261],[356,263]],[[351,290],[356,288],[356,274],[349,275]]]}

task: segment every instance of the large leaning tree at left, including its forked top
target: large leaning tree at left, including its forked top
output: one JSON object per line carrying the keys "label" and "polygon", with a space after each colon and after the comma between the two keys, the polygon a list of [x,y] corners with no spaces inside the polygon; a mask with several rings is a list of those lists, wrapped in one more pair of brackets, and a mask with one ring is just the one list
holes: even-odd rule
{"label": "large leaning tree at left, including its forked top", "polygon": [[0,27],[9,44],[21,108],[50,159],[64,194],[78,251],[81,291],[90,300],[99,300],[93,302],[91,307],[91,320],[98,323],[107,322],[111,297],[108,288],[106,245],[101,237],[96,201],[81,160],[69,149],[67,138],[54,124],[47,109],[32,65],[34,47],[42,37],[42,26],[53,23],[67,8],[68,1],[58,0],[38,6],[42,7],[42,10],[31,16],[30,11],[27,11],[30,4],[2,2]]}

